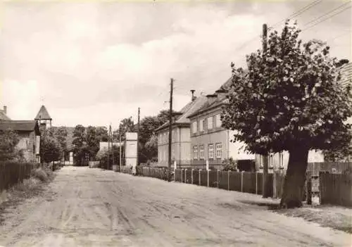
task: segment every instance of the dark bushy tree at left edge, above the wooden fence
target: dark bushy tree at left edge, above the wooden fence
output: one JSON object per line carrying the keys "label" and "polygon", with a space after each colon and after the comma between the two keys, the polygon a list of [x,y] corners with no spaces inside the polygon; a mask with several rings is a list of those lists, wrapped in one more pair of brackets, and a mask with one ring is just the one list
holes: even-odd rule
{"label": "dark bushy tree at left edge, above the wooden fence", "polygon": [[11,129],[0,130],[0,161],[21,160],[21,152],[17,150],[18,134]]}

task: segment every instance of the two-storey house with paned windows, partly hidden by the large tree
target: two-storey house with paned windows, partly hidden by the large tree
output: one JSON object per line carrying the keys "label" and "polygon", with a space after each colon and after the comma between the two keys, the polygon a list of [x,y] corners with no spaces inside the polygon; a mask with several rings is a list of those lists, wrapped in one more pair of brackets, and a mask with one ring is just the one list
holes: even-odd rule
{"label": "two-storey house with paned windows, partly hidden by the large tree", "polygon": [[242,150],[244,143],[230,141],[234,131],[222,127],[222,106],[228,103],[226,94],[231,79],[227,80],[194,113],[188,115],[191,122],[191,165],[195,169],[218,169],[228,158],[238,160],[241,170],[253,170],[255,156]]}

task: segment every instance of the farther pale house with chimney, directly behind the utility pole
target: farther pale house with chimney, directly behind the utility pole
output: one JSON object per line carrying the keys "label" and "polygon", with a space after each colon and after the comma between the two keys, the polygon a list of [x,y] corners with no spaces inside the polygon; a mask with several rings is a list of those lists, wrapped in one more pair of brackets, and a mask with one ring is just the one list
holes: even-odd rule
{"label": "farther pale house with chimney, directly behind the utility pole", "polygon": [[[191,122],[188,116],[198,110],[206,101],[205,96],[194,96],[192,90],[191,101],[179,112],[174,113],[172,121],[172,162],[176,161],[177,166],[187,167],[191,165]],[[158,165],[168,165],[168,144],[169,144],[169,122],[156,129],[158,136]]]}

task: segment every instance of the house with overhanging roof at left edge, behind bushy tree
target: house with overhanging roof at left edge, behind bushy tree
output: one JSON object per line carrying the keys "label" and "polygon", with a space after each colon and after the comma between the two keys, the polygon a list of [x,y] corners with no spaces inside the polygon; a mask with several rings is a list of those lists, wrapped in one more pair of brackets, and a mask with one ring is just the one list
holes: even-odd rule
{"label": "house with overhanging roof at left edge, behind bushy tree", "polygon": [[23,151],[23,158],[27,162],[39,162],[40,130],[35,120],[11,120],[6,115],[7,108],[0,111],[0,130],[11,129],[18,134],[19,141],[16,146]]}

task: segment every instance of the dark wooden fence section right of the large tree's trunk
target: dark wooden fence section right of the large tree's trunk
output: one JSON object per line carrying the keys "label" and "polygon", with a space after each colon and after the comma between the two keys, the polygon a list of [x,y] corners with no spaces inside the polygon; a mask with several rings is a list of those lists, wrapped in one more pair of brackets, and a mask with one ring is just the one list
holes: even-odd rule
{"label": "dark wooden fence section right of the large tree's trunk", "polygon": [[352,206],[352,175],[319,174],[320,203]]}

